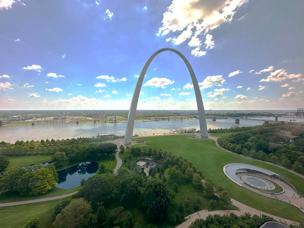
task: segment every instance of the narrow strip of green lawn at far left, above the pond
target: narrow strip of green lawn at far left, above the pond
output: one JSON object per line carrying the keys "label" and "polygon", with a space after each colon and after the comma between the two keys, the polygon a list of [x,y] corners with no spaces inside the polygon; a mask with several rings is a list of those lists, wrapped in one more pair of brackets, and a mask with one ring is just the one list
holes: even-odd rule
{"label": "narrow strip of green lawn at far left, above the pond", "polygon": [[8,167],[20,167],[28,164],[39,163],[43,161],[50,161],[52,155],[22,155],[22,156],[8,156]]}

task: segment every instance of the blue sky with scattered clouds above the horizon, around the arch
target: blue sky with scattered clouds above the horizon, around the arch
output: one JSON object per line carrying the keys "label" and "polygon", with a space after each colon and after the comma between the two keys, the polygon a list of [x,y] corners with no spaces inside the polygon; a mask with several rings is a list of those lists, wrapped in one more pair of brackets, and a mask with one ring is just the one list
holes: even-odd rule
{"label": "blue sky with scattered clouds above the horizon, around the arch", "polygon": [[[304,106],[304,1],[0,0],[0,109],[129,109],[160,48],[205,109]],[[196,109],[163,52],[138,109]]]}

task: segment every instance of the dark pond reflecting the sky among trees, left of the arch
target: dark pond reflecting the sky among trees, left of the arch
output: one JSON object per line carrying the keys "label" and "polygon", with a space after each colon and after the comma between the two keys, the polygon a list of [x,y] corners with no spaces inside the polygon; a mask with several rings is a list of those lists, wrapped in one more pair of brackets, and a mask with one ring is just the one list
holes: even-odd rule
{"label": "dark pond reflecting the sky among trees, left of the arch", "polygon": [[87,161],[76,164],[69,168],[57,171],[58,172],[58,188],[75,188],[80,185],[82,179],[86,180],[93,176],[99,167],[97,161]]}

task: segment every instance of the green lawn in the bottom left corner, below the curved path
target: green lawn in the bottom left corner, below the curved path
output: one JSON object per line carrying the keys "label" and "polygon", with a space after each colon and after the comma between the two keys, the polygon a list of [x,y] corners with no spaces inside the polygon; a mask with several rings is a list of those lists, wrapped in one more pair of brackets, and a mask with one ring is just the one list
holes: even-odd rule
{"label": "green lawn in the bottom left corner, below the curved path", "polygon": [[52,227],[53,211],[56,204],[69,197],[41,203],[24,204],[0,208],[1,228],[21,228],[28,220],[38,217],[41,227]]}

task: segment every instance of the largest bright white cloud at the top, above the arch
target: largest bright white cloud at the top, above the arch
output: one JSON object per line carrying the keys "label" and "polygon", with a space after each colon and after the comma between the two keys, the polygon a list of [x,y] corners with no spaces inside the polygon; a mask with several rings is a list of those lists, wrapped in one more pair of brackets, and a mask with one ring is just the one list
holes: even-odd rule
{"label": "largest bright white cloud at the top, above the arch", "polygon": [[[170,32],[177,34],[177,37],[166,39],[175,45],[190,39],[188,45],[193,47],[191,54],[195,57],[203,56],[206,54],[202,50],[204,40],[206,49],[214,47],[214,41],[208,32],[230,22],[236,9],[245,2],[246,0],[172,0],[163,13],[162,26],[156,35],[164,36]],[[204,36],[205,34],[207,35]]]}

